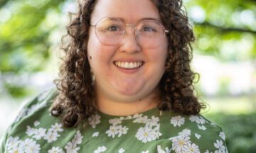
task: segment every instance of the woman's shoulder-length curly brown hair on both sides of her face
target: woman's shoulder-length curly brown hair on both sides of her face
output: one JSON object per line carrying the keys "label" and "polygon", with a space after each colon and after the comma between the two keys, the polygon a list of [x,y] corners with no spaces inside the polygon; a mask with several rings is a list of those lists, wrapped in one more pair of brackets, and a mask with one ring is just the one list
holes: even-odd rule
{"label": "woman's shoulder-length curly brown hair on both sides of her face", "polygon": [[[185,115],[195,115],[205,108],[194,96],[191,71],[191,42],[193,30],[188,23],[186,11],[181,0],[151,0],[159,10],[167,35],[169,47],[166,71],[159,83],[161,103],[159,110],[175,111]],[[63,44],[63,64],[60,67],[60,79],[55,80],[59,90],[51,107],[52,115],[62,115],[65,127],[75,127],[96,112],[95,95],[90,65],[87,59],[87,40],[90,18],[97,0],[78,1],[78,13],[68,25],[70,38],[68,45]],[[65,46],[64,46],[65,45]]]}

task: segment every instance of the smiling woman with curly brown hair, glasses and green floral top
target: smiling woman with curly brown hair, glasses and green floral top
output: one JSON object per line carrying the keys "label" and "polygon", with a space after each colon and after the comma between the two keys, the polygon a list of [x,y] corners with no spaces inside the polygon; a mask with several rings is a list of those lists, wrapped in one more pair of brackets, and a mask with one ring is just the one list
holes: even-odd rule
{"label": "smiling woman with curly brown hair, glasses and green floral top", "polygon": [[28,103],[1,152],[228,152],[223,131],[198,115],[181,7],[80,1],[58,91]]}

